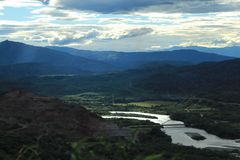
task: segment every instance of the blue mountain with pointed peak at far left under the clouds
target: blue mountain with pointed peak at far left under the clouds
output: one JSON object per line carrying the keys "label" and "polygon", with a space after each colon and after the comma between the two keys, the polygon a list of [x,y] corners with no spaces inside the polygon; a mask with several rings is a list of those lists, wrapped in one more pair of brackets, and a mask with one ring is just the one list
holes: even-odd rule
{"label": "blue mountain with pointed peak at far left under the clouds", "polygon": [[[25,67],[25,69],[31,70],[31,67],[37,68],[39,64],[44,64],[46,71],[49,67],[50,71],[58,70],[59,72],[63,69],[62,73],[65,73],[64,70],[67,70],[68,73],[77,73],[78,71],[79,73],[82,73],[83,71],[107,72],[114,70],[112,65],[104,62],[90,60],[80,56],[73,56],[68,53],[44,47],[35,47],[12,41],[4,41],[0,43],[0,65],[4,65],[6,69],[7,65],[22,63],[24,63],[22,66],[26,66],[26,63],[28,64],[29,68]],[[30,64],[35,65],[30,67]],[[1,67],[2,66],[0,66],[0,68]],[[41,68],[41,70],[43,69]]]}

